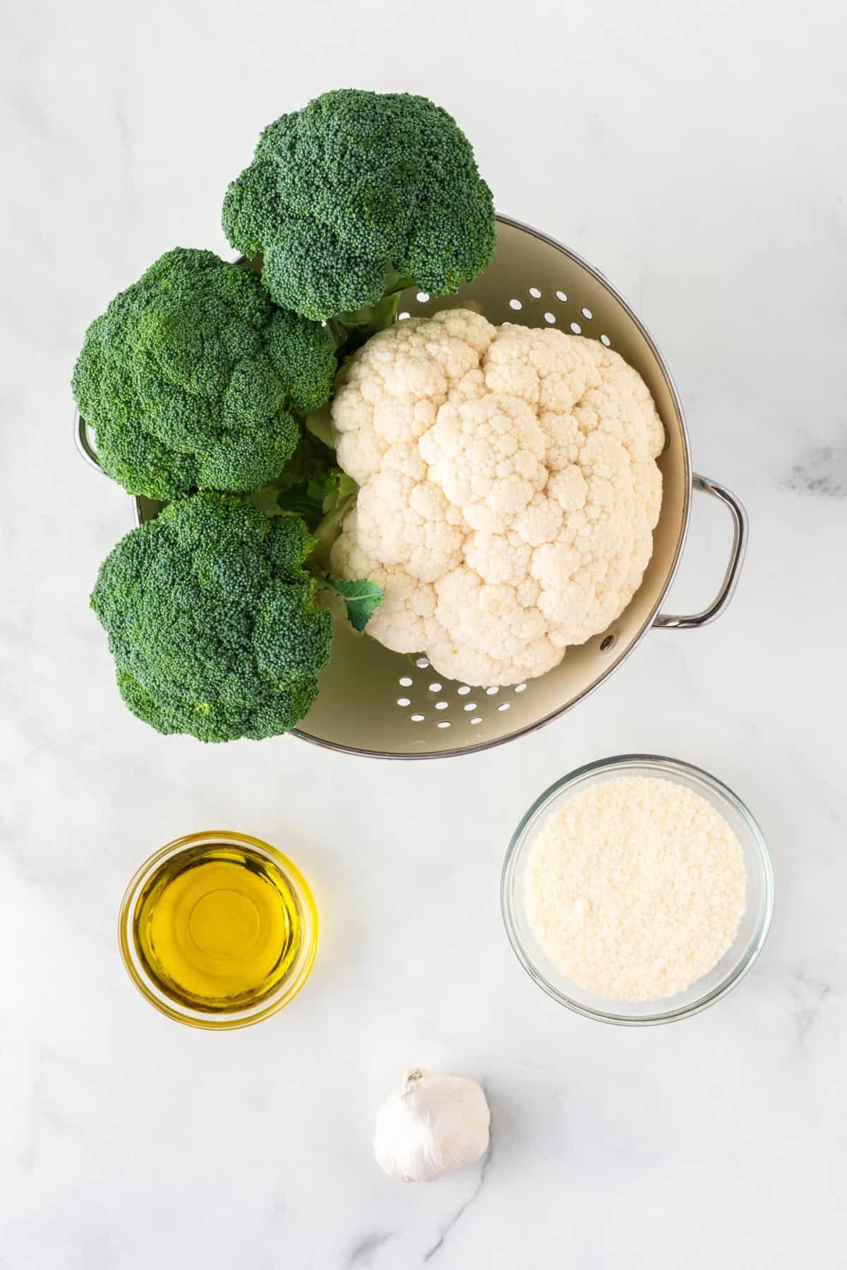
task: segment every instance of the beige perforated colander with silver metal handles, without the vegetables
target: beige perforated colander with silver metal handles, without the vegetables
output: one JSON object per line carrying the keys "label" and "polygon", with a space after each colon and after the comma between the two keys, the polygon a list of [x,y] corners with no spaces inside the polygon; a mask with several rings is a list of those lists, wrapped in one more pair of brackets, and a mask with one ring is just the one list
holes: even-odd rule
{"label": "beige perforated colander with silver metal handles, without the vegetables", "polygon": [[[404,292],[400,316],[472,304],[491,323],[519,321],[588,335],[616,349],[646,382],[668,442],[659,458],[663,499],[653,556],[640,589],[607,630],[578,648],[538,679],[509,688],[474,688],[444,679],[427,658],[391,653],[339,624],[321,692],[300,728],[303,740],[377,758],[439,758],[469,754],[514,740],[557,719],[603,683],[651,626],[693,630],[719,617],[738,583],[747,547],[747,516],[717,481],[692,475],[679,396],[657,345],[625,300],[597,269],[528,225],[498,216],[493,264],[453,296]],[[97,466],[84,419],[75,418],[77,447]],[[692,488],[719,499],[733,518],[726,574],[712,602],[698,613],[660,613],[686,541]],[[161,504],[136,499],[141,525]]]}

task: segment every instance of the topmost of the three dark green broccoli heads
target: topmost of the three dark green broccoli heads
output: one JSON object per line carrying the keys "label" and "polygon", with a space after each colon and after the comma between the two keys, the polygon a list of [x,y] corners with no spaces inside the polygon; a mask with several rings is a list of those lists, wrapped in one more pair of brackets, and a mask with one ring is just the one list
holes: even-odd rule
{"label": "topmost of the three dark green broccoli heads", "polygon": [[411,282],[439,295],[494,255],[491,192],[456,121],[408,93],[339,89],[264,130],[223,231],[277,304],[329,320]]}

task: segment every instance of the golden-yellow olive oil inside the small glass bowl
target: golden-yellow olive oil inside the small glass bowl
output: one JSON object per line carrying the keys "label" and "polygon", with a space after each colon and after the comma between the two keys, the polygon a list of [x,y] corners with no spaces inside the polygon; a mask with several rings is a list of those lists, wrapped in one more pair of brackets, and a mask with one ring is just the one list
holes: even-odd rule
{"label": "golden-yellow olive oil inside the small glass bowl", "polygon": [[192,1011],[225,1013],[279,988],[297,960],[303,912],[267,853],[212,841],[161,862],[137,895],[132,933],[163,993]]}

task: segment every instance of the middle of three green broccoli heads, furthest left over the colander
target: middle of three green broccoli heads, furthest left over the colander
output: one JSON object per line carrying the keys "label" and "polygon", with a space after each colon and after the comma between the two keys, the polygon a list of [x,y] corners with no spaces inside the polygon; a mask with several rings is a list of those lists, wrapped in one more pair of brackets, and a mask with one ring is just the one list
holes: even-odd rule
{"label": "middle of three green broccoli heads, furthest left over the colander", "polygon": [[168,500],[277,476],[335,370],[328,331],[274,309],[253,271],[177,248],[91,323],[72,386],[103,470]]}

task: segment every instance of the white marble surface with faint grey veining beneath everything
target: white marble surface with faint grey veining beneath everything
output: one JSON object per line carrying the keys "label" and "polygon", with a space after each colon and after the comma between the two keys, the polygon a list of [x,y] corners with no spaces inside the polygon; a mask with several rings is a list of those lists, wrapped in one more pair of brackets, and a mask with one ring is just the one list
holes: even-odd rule
{"label": "white marble surface with faint grey veining beneath everything", "polygon": [[[834,0],[6,9],[1,1270],[847,1264],[843,41]],[[434,765],[165,740],[86,607],[131,523],[71,447],[86,324],[168,248],[225,251],[262,126],[350,84],[446,105],[498,208],[627,296],[696,467],[752,523],[719,624],[654,632],[557,724]],[[698,507],[677,611],[726,537]],[[571,1016],[500,925],[528,803],[625,751],[721,776],[773,855],[758,965],[673,1027]],[[324,923],[307,989],[244,1033],[159,1016],[116,945],[136,865],[204,827],[290,851]],[[404,1187],[373,1165],[414,1063],[484,1082],[484,1170]]]}

